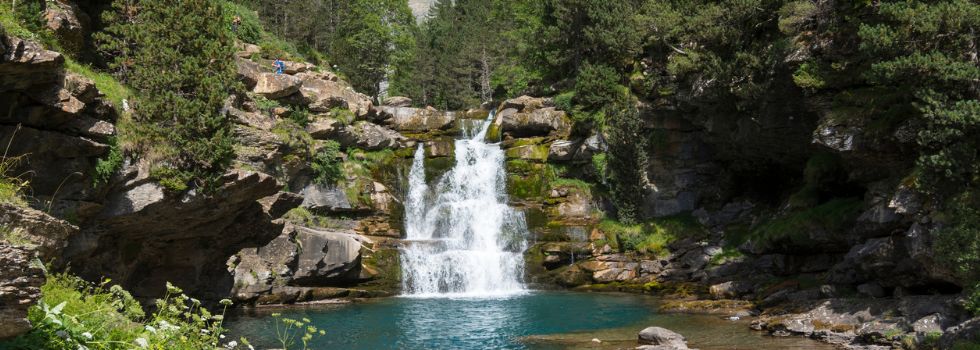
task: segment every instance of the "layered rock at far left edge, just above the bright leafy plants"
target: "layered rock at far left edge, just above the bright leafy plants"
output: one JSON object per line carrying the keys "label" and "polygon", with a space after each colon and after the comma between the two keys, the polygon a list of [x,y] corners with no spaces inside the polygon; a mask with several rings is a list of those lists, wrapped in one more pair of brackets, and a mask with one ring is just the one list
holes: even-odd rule
{"label": "layered rock at far left edge, just above the bright leafy plants", "polygon": [[34,251],[0,240],[0,340],[31,330],[27,309],[41,298],[44,270]]}

